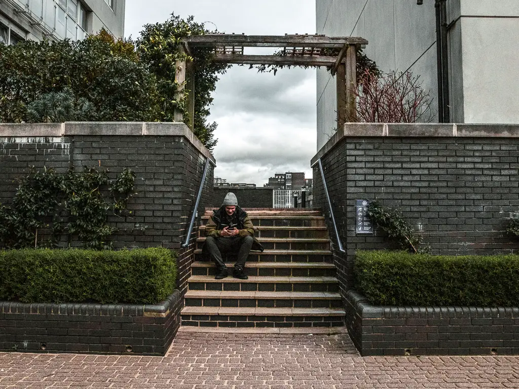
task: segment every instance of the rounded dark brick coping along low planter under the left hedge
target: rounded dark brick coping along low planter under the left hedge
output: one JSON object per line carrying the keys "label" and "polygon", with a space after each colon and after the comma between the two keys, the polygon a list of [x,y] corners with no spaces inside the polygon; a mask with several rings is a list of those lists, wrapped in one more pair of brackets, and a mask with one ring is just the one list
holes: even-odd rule
{"label": "rounded dark brick coping along low planter under the left hedge", "polygon": [[174,290],[166,300],[157,304],[24,303],[0,301],[0,313],[166,317],[170,309],[174,307],[180,298],[180,291]]}

